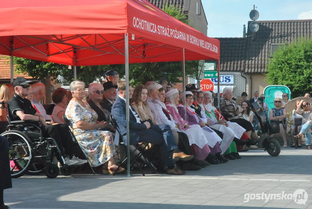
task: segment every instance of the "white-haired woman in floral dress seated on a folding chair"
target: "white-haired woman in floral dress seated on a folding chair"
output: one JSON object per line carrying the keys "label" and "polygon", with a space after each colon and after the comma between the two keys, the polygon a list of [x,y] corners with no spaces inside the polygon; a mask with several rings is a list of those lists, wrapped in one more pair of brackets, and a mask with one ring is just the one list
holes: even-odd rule
{"label": "white-haired woman in floral dress seated on a folding chair", "polygon": [[[85,97],[85,83],[83,81],[71,82],[70,91],[72,100],[66,108],[66,117],[71,123],[71,129],[92,167],[103,165],[103,174],[113,174],[117,165],[115,158],[120,158],[118,147],[114,145],[114,135],[109,131],[100,129],[107,127],[107,122],[97,121],[98,115],[87,102]],[[118,172],[123,172],[120,167]]]}

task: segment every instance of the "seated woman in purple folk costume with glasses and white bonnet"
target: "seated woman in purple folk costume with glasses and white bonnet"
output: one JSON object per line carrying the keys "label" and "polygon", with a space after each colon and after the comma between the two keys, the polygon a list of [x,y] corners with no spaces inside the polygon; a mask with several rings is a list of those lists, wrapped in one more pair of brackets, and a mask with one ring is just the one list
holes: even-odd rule
{"label": "seated woman in purple folk costume with glasses and white bonnet", "polygon": [[[220,155],[222,152],[220,148],[219,142],[222,142],[222,138],[220,138],[216,132],[214,132],[211,128],[207,127],[205,123],[202,121],[202,119],[196,114],[196,112],[190,107],[193,103],[193,93],[186,91],[186,115],[184,113],[184,107],[183,103],[178,104],[178,112],[182,118],[186,118],[186,121],[188,122],[189,125],[199,125],[202,129],[202,132],[204,133],[206,139],[207,139],[207,144],[210,148],[210,151],[213,155],[215,155],[217,159],[217,164],[220,162],[227,162],[227,159],[225,159],[223,156]],[[184,94],[182,93],[180,95],[180,99],[184,97]],[[214,162],[212,156],[208,156],[209,158],[207,159],[208,162],[211,164],[216,164]],[[224,159],[223,159],[224,158]]]}

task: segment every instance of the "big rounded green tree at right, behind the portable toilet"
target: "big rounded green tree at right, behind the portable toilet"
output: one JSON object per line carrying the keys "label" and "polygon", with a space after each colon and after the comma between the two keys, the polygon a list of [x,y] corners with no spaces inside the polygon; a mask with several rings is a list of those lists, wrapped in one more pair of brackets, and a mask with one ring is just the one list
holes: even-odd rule
{"label": "big rounded green tree at right, behind the portable toilet", "polygon": [[266,80],[289,87],[293,97],[312,92],[312,40],[301,38],[279,47],[269,59]]}

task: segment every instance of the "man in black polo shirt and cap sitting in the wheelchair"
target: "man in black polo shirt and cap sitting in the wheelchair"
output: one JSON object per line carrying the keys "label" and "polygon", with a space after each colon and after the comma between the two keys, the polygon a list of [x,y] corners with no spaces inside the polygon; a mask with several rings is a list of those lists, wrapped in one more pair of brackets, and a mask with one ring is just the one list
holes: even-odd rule
{"label": "man in black polo shirt and cap sitting in the wheelchair", "polygon": [[[54,125],[46,125],[44,117],[38,113],[31,102],[25,97],[29,95],[30,81],[27,81],[24,77],[17,77],[13,82],[15,94],[9,101],[8,113],[11,121],[28,121],[32,120],[37,122],[36,125],[41,125],[42,135],[45,138],[53,138],[61,151],[61,156],[65,157],[62,144],[62,133]],[[60,156],[60,157],[61,157]],[[61,159],[58,158],[60,161]],[[67,165],[77,164],[78,161],[65,158]]]}

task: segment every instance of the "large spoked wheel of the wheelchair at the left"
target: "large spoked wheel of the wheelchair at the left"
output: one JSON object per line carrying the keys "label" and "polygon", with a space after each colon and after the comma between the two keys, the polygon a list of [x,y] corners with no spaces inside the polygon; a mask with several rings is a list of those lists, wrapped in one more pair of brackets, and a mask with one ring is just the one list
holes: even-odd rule
{"label": "large spoked wheel of the wheelchair at the left", "polygon": [[34,160],[33,144],[29,137],[16,130],[3,132],[1,136],[9,142],[9,158],[11,164],[11,177],[23,176]]}

